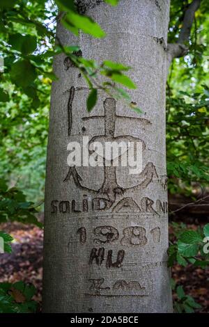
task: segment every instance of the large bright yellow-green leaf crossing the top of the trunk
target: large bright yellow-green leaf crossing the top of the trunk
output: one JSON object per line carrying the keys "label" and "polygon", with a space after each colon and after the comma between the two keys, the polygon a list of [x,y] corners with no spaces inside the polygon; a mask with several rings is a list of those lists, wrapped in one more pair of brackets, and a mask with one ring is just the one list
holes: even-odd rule
{"label": "large bright yellow-green leaf crossing the top of the trunk", "polygon": [[95,38],[104,38],[105,36],[100,25],[95,23],[91,17],[79,15],[71,10],[63,17],[62,22],[67,22],[72,26],[73,29],[70,29],[70,31],[75,35],[77,35],[76,29],[81,29],[84,33],[93,35]]}

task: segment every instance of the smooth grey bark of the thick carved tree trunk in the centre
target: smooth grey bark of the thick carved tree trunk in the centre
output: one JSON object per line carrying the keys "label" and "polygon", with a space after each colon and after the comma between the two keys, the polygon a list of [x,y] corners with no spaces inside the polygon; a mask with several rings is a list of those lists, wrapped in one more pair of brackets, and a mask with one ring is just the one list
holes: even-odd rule
{"label": "smooth grey bark of the thick carved tree trunk in the centre", "polygon": [[[54,58],[59,81],[52,86],[47,150],[44,312],[172,312],[165,153],[169,1],[78,2],[107,37],[81,33],[77,40],[58,25],[59,40],[79,42],[85,58],[130,65],[137,84],[132,101],[144,113],[100,92],[88,114],[85,81],[65,56]],[[67,145],[82,145],[83,136],[143,141],[142,172],[69,168]]]}

